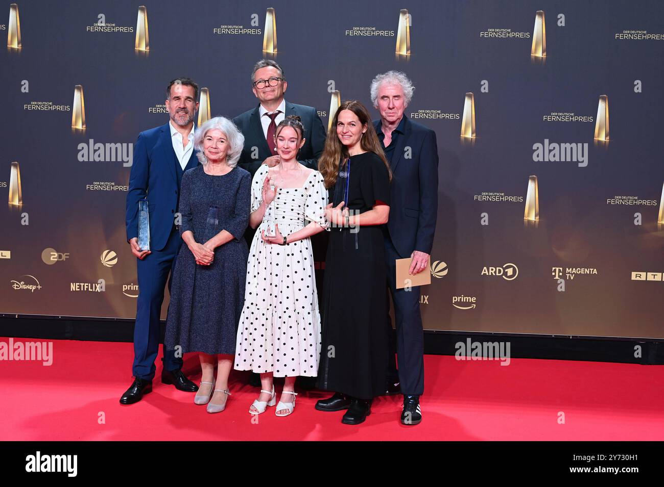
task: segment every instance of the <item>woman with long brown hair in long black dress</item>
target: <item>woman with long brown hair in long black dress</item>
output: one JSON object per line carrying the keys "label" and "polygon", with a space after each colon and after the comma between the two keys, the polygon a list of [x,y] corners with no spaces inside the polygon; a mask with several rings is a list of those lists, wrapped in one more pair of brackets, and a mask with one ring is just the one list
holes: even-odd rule
{"label": "woman with long brown hair in long black dress", "polygon": [[348,409],[359,424],[385,392],[388,335],[381,225],[390,212],[390,168],[367,109],[341,104],[325,141],[319,171],[329,190],[330,238],[325,260],[318,386],[335,394],[319,411]]}

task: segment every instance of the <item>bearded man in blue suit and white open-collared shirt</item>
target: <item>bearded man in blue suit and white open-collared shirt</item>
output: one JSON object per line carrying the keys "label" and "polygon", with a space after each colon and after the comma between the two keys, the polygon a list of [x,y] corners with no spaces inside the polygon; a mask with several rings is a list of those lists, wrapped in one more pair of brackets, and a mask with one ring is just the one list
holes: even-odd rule
{"label": "bearded man in blue suit and white open-collared shirt", "polygon": [[[133,149],[126,224],[127,242],[131,245],[131,253],[137,257],[139,294],[133,331],[134,381],[120,398],[120,404],[138,402],[143,394],[152,390],[164,288],[175,268],[175,258],[182,243],[176,215],[180,184],[183,173],[199,164],[194,149],[198,94],[198,85],[189,78],[171,81],[166,89],[169,123],[141,132]],[[138,202],[143,199],[147,199],[149,214],[149,250],[138,245]],[[163,352],[161,382],[174,384],[179,390],[196,392],[198,386],[182,373],[181,356],[175,356],[175,351]]]}

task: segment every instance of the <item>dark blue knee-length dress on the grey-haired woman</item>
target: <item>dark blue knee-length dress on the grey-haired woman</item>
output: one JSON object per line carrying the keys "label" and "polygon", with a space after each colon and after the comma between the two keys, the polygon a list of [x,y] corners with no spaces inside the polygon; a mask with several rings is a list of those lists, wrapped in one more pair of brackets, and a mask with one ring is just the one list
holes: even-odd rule
{"label": "dark blue knee-length dress on the grey-haired woman", "polygon": [[191,230],[204,244],[222,230],[235,239],[214,249],[209,266],[196,263],[183,244],[175,263],[171,302],[166,319],[167,350],[183,353],[234,354],[246,277],[251,176],[235,167],[222,176],[206,174],[203,166],[182,177],[180,233]]}

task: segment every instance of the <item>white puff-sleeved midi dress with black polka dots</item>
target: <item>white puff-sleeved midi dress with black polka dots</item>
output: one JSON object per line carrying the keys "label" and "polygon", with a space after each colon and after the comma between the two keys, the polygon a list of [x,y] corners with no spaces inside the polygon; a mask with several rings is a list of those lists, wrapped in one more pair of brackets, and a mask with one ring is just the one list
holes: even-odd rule
{"label": "white puff-sleeved midi dress with black polka dots", "polygon": [[[262,202],[263,165],[252,180],[251,211]],[[316,376],[321,351],[321,317],[311,240],[269,244],[261,233],[284,237],[309,221],[325,223],[327,189],[313,171],[302,188],[278,188],[249,250],[246,293],[236,343],[236,370],[274,372],[276,377]],[[305,222],[306,220],[306,222]]]}

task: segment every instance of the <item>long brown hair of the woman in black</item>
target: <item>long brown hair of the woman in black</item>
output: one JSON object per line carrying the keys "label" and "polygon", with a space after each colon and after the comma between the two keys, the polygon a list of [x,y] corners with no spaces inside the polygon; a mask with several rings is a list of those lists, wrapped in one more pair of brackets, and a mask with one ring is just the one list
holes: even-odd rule
{"label": "long brown hair of the woman in black", "polygon": [[385,154],[382,151],[382,145],[376,135],[376,129],[374,129],[373,123],[371,123],[369,112],[359,101],[347,100],[339,105],[339,109],[332,119],[329,132],[327,133],[327,139],[325,139],[325,149],[318,160],[318,170],[325,179],[325,188],[331,188],[335,185],[337,177],[339,176],[339,166],[344,166],[346,164],[346,158],[348,157],[348,149],[341,143],[339,136],[337,136],[337,121],[339,119],[339,113],[343,110],[352,111],[357,115],[360,123],[363,126],[367,126],[367,131],[360,139],[360,146],[362,150],[373,152],[376,156],[380,157],[380,160],[384,162],[385,167],[387,168],[390,180],[392,180],[390,164],[388,164]]}

